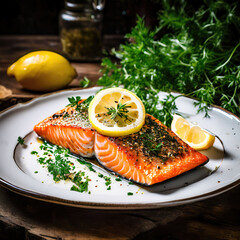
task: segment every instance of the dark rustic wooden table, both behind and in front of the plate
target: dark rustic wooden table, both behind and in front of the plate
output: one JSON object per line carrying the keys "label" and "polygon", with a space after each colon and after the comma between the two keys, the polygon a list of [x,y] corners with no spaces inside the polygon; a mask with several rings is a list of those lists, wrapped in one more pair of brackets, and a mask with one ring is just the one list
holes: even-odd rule
{"label": "dark rustic wooden table, both behind and in front of the plate", "polygon": [[[107,47],[121,40],[106,38]],[[0,101],[0,110],[39,96],[6,76],[6,68],[32,50],[55,50],[56,36],[0,37],[0,84],[12,96]],[[79,74],[70,88],[100,76],[100,63],[73,63]],[[1,159],[0,159],[1,160]],[[0,239],[240,239],[240,186],[193,204],[154,210],[90,210],[61,206],[23,197],[0,187]]]}

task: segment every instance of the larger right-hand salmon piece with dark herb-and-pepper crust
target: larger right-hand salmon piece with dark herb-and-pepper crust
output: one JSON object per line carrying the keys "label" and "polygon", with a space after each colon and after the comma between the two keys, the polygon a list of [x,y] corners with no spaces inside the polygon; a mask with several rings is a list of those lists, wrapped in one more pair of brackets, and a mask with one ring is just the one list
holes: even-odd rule
{"label": "larger right-hand salmon piece with dark herb-and-pepper crust", "polygon": [[208,161],[148,114],[137,133],[124,137],[96,133],[94,149],[103,166],[145,185],[173,178]]}

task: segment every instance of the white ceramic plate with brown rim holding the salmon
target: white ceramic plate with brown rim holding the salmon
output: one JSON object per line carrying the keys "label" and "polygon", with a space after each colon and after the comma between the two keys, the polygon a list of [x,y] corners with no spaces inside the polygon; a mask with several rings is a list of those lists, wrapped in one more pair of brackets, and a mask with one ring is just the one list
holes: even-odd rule
{"label": "white ceramic plate with brown rim holding the salmon", "polygon": [[[209,162],[174,179],[151,187],[115,181],[111,190],[97,174],[91,175],[91,194],[70,191],[66,182],[55,183],[46,169],[30,154],[39,147],[32,129],[35,124],[64,108],[68,97],[86,98],[99,88],[62,91],[19,104],[0,115],[0,183],[19,194],[59,204],[101,209],[144,209],[176,206],[207,199],[223,193],[240,182],[240,119],[220,108],[210,110],[210,118],[196,114],[194,100],[180,97],[179,112],[218,137],[214,146],[203,151]],[[164,97],[165,93],[160,93]],[[25,137],[26,146],[17,146]],[[17,146],[17,147],[16,147]],[[81,166],[80,166],[81,167]],[[97,172],[105,170],[96,167]],[[90,173],[92,174],[92,173]],[[131,192],[133,195],[128,195]]]}

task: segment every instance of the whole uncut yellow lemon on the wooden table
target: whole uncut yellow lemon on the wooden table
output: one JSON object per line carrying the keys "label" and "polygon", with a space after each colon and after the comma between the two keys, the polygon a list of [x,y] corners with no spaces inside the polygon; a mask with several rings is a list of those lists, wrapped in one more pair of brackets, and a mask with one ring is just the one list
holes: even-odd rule
{"label": "whole uncut yellow lemon on the wooden table", "polygon": [[51,51],[24,55],[7,69],[7,74],[14,76],[24,88],[33,91],[61,89],[77,76],[66,58]]}

